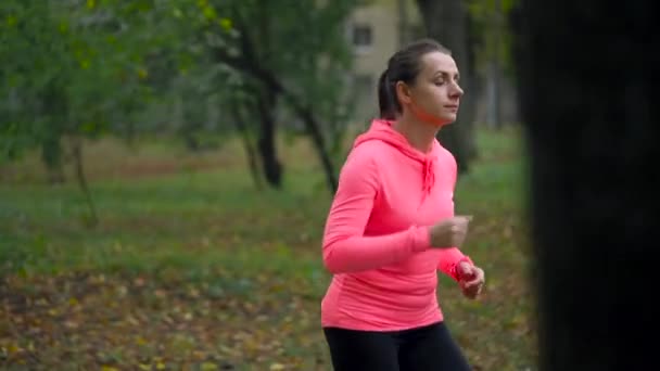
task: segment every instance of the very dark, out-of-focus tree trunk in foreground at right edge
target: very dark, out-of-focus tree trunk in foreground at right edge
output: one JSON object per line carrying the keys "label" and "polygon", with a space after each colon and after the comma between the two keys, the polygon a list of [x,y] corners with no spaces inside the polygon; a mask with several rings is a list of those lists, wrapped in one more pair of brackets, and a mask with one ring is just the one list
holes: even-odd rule
{"label": "very dark, out-of-focus tree trunk in foreground at right edge", "polygon": [[522,0],[515,12],[544,371],[658,363],[657,4]]}

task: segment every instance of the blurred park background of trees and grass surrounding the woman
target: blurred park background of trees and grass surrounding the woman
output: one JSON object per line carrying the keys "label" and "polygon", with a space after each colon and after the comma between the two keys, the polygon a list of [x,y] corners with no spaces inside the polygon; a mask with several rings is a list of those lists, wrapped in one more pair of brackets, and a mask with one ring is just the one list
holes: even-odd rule
{"label": "blurred park background of trees and grass surrounding the woman", "polygon": [[399,47],[453,51],[475,370],[534,370],[513,0],[2,0],[0,368],[330,370],[320,241]]}

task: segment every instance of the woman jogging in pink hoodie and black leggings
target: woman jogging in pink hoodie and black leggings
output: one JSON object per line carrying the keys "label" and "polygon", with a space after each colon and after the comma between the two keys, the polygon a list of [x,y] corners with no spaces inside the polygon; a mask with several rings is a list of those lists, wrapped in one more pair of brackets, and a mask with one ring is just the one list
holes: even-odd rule
{"label": "woman jogging in pink hoodie and black leggings", "polygon": [[462,95],[456,63],[433,40],[412,42],[392,55],[378,94],[381,118],[354,142],[323,235],[333,369],[470,370],[436,296],[437,270],[469,298],[484,283],[458,248],[470,217],[454,215],[456,161],[435,140]]}

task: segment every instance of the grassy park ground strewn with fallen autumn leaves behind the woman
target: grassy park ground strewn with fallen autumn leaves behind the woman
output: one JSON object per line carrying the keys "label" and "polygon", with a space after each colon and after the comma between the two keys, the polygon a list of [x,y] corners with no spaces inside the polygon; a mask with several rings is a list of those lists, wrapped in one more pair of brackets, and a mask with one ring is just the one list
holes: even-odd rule
{"label": "grassy park ground strewn with fallen autumn leaves behind the woman", "polygon": [[[447,323],[478,370],[535,369],[518,132],[481,132],[456,192],[481,299],[441,276]],[[287,143],[283,143],[287,145]],[[3,370],[331,370],[319,328],[330,195],[313,152],[284,146],[282,191],[257,191],[237,143],[190,154],[86,148],[100,217],[38,157],[0,168]],[[69,176],[71,178],[71,176]]]}

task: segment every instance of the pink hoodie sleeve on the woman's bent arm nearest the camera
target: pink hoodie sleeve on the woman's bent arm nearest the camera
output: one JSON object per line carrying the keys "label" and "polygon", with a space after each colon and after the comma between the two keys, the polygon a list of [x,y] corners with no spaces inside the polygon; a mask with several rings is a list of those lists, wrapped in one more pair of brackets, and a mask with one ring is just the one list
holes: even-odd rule
{"label": "pink hoodie sleeve on the woman's bent arm nearest the camera", "polygon": [[360,145],[354,149],[341,170],[326,221],[323,264],[330,272],[377,269],[429,248],[428,227],[410,227],[386,235],[364,235],[378,189],[378,168],[368,146]]}

